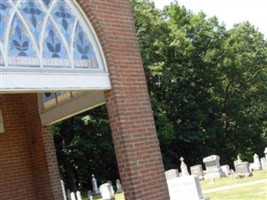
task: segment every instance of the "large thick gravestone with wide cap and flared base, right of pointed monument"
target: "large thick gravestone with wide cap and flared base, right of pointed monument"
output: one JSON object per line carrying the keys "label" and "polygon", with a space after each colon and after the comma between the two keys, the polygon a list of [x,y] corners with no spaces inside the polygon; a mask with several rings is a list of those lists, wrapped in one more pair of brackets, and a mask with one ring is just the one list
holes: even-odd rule
{"label": "large thick gravestone with wide cap and flared base, right of pointed monument", "polygon": [[204,174],[205,180],[213,180],[225,176],[219,160],[220,157],[217,155],[211,155],[203,159],[206,167],[206,173]]}

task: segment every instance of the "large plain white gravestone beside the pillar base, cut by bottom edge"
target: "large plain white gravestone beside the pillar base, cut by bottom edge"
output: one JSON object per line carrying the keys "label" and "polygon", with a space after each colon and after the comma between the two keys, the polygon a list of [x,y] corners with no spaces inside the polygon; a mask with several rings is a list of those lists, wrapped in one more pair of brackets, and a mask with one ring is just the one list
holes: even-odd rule
{"label": "large plain white gravestone beside the pillar base, cut by bottom edge", "polygon": [[167,180],[170,200],[204,200],[199,179],[182,176]]}

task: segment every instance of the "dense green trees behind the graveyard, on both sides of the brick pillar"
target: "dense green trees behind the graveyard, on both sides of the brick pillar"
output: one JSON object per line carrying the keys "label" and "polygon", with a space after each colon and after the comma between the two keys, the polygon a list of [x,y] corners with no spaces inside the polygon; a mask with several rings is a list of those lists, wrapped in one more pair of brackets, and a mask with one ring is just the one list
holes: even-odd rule
{"label": "dense green trees behind the graveyard, on both sides of the brick pillar", "polygon": [[[267,42],[249,22],[226,30],[216,17],[172,3],[131,0],[166,169],[217,154],[232,165],[267,144]],[[104,107],[55,126],[60,169],[83,188],[91,174],[118,177]],[[104,156],[101,156],[104,155]],[[67,165],[70,165],[68,168]],[[68,169],[68,170],[67,170]],[[77,185],[77,183],[76,183]]]}

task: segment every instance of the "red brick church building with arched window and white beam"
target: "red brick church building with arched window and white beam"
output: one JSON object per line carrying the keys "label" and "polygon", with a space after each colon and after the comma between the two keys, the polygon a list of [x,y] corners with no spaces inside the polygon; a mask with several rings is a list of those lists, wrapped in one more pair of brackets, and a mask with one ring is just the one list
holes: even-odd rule
{"label": "red brick church building with arched window and white beam", "polygon": [[127,0],[0,1],[0,199],[61,200],[50,126],[105,104],[126,200],[168,189]]}

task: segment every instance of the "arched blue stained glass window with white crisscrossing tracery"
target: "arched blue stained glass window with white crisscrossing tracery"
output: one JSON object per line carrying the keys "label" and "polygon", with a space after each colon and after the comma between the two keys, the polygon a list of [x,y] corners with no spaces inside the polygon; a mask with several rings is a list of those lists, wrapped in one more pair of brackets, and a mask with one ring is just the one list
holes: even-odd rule
{"label": "arched blue stained glass window with white crisscrossing tracery", "polygon": [[1,0],[1,70],[106,71],[90,24],[70,0]]}

